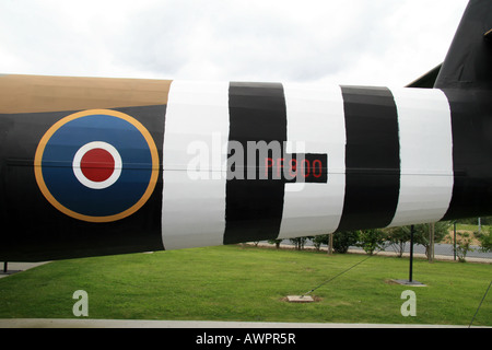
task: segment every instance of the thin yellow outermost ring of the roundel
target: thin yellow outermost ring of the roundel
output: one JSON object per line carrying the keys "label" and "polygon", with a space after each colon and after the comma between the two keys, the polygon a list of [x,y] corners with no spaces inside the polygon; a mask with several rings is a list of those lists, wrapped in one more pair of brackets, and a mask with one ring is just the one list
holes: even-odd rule
{"label": "thin yellow outermost ring of the roundel", "polygon": [[[143,194],[143,196],[140,198],[140,200],[137,203],[134,203],[132,207],[128,208],[127,210],[125,210],[125,211],[122,211],[120,213],[117,213],[117,214],[114,214],[114,215],[107,215],[107,217],[84,215],[84,214],[78,213],[78,212],[75,212],[73,210],[70,210],[67,207],[62,206],[60,202],[58,202],[58,200],[55,199],[55,197],[51,195],[51,192],[49,191],[48,187],[46,186],[45,179],[43,177],[43,168],[42,168],[43,154],[44,154],[46,144],[48,143],[48,141],[51,138],[51,136],[60,127],[62,127],[65,124],[71,121],[71,120],[74,120],[74,119],[78,119],[78,118],[81,118],[81,117],[85,117],[85,116],[97,115],[97,114],[117,117],[117,118],[124,119],[124,120],[130,122],[131,125],[133,125],[142,133],[142,136],[145,138],[145,141],[149,144],[149,149],[150,149],[151,158],[152,158],[152,174],[151,174],[151,178],[150,178],[150,182],[149,182],[149,186],[147,187],[147,190]],[[127,115],[125,113],[117,112],[117,110],[112,110],[112,109],[87,109],[87,110],[82,110],[82,112],[78,112],[78,113],[71,114],[71,115],[60,119],[59,121],[54,124],[48,129],[48,131],[46,131],[46,133],[43,136],[42,140],[39,141],[39,144],[37,145],[36,154],[34,156],[34,174],[36,176],[37,185],[39,186],[39,189],[43,192],[43,195],[45,196],[45,198],[55,208],[57,208],[59,211],[66,213],[69,217],[72,217],[72,218],[75,218],[75,219],[79,219],[79,220],[83,220],[83,221],[110,222],[110,221],[117,221],[117,220],[120,220],[120,219],[124,219],[126,217],[131,215],[132,213],[138,211],[149,200],[150,196],[154,191],[155,184],[157,183],[157,177],[159,177],[159,153],[157,153],[157,148],[155,147],[155,142],[152,139],[152,136],[145,129],[145,127],[142,124],[140,124],[140,121],[138,121],[137,119],[130,117],[129,115]]]}

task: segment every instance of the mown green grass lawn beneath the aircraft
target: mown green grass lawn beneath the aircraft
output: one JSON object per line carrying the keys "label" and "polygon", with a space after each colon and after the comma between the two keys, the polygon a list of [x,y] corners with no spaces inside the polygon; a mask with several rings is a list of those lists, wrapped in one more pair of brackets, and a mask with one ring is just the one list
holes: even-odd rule
{"label": "mown green grass lawn beneath the aircraft", "polygon": [[[366,255],[221,246],[54,261],[0,279],[0,318],[75,318],[72,294],[89,294],[90,318],[468,325],[492,279],[484,264],[409,260]],[[401,292],[417,295],[417,316],[403,317]],[[473,326],[492,326],[489,293]]]}

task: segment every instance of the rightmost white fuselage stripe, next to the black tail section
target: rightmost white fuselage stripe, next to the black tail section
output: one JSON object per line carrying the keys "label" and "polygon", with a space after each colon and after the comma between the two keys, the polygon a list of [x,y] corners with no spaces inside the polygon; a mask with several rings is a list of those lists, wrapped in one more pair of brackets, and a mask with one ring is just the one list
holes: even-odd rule
{"label": "rightmost white fuselage stripe, next to the black tail section", "polygon": [[453,195],[449,103],[441,90],[391,89],[398,112],[400,195],[390,226],[436,222]]}

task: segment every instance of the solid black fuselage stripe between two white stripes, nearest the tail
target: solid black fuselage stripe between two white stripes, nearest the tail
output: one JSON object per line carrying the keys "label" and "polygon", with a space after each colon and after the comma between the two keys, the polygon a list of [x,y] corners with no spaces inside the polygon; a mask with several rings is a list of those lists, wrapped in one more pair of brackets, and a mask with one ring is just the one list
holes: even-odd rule
{"label": "solid black fuselage stripe between two white stripes, nearest the tail", "polygon": [[398,205],[398,115],[386,88],[341,86],[345,116],[345,197],[337,231],[387,226]]}

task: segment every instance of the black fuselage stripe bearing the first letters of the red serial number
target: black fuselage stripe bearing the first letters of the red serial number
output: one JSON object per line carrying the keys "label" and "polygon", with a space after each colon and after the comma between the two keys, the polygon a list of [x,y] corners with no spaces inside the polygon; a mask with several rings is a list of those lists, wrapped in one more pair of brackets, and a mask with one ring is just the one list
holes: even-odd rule
{"label": "black fuselage stripe bearing the first letters of the red serial number", "polygon": [[[231,82],[229,91],[230,158],[227,164],[224,244],[277,238],[283,211],[284,182],[259,178],[263,164],[257,156],[256,178],[247,168],[235,168],[231,145],[241,144],[244,164],[248,161],[248,141],[279,142],[283,154],[286,141],[286,112],[280,83]],[[236,141],[236,142],[232,142]],[[237,155],[237,154],[236,154]],[[235,158],[237,160],[237,158]],[[249,164],[253,165],[253,164]],[[231,178],[231,168],[244,178]],[[248,176],[249,175],[249,176]]]}

